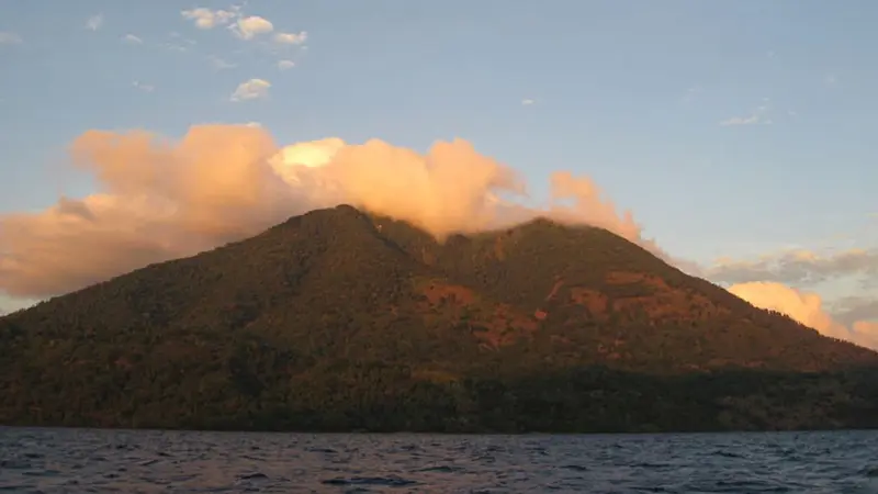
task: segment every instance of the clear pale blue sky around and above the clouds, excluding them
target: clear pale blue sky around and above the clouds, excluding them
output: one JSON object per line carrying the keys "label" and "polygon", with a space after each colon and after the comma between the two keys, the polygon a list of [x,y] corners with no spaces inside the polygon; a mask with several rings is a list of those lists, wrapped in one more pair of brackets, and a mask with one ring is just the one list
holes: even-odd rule
{"label": "clear pale blue sky around and above the clouds, excluding them", "polygon": [[[92,192],[66,158],[88,130],[259,122],[282,144],[465,138],[537,198],[553,170],[592,177],[676,257],[830,269],[878,248],[878,3],[833,5],[252,0],[272,31],[246,40],[181,13],[227,2],[0,0],[0,214]],[[255,78],[266,98],[230,100]],[[791,284],[869,304],[864,259]]]}

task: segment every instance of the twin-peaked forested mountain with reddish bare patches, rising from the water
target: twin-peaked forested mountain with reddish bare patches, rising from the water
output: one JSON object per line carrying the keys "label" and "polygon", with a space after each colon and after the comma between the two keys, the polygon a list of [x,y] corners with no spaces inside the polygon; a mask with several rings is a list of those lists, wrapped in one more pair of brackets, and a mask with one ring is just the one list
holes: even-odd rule
{"label": "twin-peaked forested mountain with reddish bare patches, rising from the water", "polygon": [[0,318],[0,424],[875,427],[875,369],[605,229],[439,243],[341,205]]}

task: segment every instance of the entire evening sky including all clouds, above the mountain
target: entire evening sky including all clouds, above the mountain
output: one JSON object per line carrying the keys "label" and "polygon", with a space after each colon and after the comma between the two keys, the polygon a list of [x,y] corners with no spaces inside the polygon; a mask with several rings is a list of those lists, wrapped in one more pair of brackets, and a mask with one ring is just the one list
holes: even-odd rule
{"label": "entire evening sky including all clouds, above the mountain", "polygon": [[865,0],[0,0],[0,311],[358,202],[438,235],[598,224],[878,348],[876,21]]}

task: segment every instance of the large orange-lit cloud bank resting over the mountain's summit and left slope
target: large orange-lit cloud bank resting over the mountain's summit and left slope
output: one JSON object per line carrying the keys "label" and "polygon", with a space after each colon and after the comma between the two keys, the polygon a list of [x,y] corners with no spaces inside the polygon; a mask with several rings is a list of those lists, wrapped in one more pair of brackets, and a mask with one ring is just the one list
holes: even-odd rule
{"label": "large orange-lit cloud bank resting over the mountain's summit and left slope", "polygon": [[461,139],[426,153],[372,139],[278,147],[258,126],[200,125],[179,142],[89,131],[70,146],[98,192],[42,212],[0,215],[0,293],[45,297],[151,262],[255,235],[286,217],[348,203],[443,237],[538,215],[604,226],[641,245],[587,178],[552,176],[554,201],[527,207],[518,173]]}

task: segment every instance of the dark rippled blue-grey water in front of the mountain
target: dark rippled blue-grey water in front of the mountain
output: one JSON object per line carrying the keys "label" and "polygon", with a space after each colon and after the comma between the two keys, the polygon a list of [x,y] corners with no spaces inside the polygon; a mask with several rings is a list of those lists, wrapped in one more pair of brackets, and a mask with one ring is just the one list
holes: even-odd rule
{"label": "dark rippled blue-grey water in front of the mountain", "polygon": [[878,433],[439,436],[0,428],[2,493],[878,493]]}

